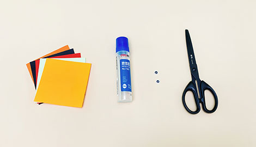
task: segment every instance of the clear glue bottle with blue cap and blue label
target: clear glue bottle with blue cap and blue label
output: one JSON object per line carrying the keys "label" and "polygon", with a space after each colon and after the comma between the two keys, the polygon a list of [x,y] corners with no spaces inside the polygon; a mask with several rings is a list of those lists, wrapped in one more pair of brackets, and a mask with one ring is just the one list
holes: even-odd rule
{"label": "clear glue bottle with blue cap and blue label", "polygon": [[116,44],[118,102],[131,102],[132,87],[128,39],[120,36],[117,38]]}

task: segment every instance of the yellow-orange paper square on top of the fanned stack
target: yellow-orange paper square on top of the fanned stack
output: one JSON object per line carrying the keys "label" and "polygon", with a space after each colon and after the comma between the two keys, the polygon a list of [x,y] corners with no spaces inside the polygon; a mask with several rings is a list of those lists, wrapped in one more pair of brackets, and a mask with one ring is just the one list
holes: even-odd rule
{"label": "yellow-orange paper square on top of the fanned stack", "polygon": [[82,107],[91,65],[47,58],[34,101]]}

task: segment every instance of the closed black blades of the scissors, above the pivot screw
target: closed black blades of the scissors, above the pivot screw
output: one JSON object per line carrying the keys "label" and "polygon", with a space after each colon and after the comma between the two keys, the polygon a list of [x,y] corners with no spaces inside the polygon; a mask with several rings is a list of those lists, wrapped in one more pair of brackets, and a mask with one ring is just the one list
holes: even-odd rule
{"label": "closed black blades of the scissors, above the pivot screw", "polygon": [[192,41],[190,38],[190,33],[188,30],[185,30],[186,32],[186,44],[187,44],[187,55],[188,55],[188,61],[190,62],[190,66],[193,64],[196,64],[196,58],[194,57],[194,50],[192,46]]}

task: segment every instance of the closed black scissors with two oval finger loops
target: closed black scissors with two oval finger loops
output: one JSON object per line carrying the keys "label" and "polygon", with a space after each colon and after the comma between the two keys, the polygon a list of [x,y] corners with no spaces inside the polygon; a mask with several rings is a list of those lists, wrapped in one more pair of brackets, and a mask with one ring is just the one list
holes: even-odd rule
{"label": "closed black scissors with two oval finger loops", "polygon": [[[217,94],[215,93],[214,89],[210,87],[210,85],[200,80],[198,69],[197,69],[196,58],[194,57],[194,50],[193,50],[192,41],[190,38],[190,33],[188,32],[187,29],[185,30],[185,33],[186,33],[187,55],[188,55],[188,61],[190,63],[190,73],[191,73],[192,81],[187,84],[187,87],[185,88],[182,94],[182,103],[185,109],[187,110],[187,112],[191,114],[197,114],[200,111],[200,103],[202,103],[203,110],[206,113],[213,113],[216,111],[218,107]],[[214,105],[214,108],[212,108],[211,110],[206,108],[206,105],[205,105],[205,95],[204,95],[205,90],[209,90],[214,96],[215,105]],[[191,109],[188,108],[186,105],[185,95],[187,91],[192,91],[193,93],[194,100],[196,101],[196,106],[197,106],[196,111],[191,111]]]}

